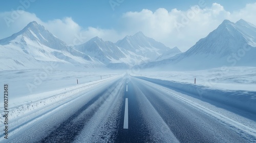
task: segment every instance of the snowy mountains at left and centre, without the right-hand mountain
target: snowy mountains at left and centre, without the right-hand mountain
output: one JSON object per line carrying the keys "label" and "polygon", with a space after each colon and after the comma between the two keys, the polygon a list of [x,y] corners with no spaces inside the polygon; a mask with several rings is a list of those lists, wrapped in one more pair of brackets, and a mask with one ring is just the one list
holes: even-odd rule
{"label": "snowy mountains at left and centre, without the right-hand mountain", "polygon": [[[142,32],[117,43],[94,37],[84,44],[68,46],[36,21],[22,31],[0,40],[0,69],[38,68],[50,63],[84,67],[130,68],[181,53],[146,37]],[[168,53],[166,55],[166,53]]]}

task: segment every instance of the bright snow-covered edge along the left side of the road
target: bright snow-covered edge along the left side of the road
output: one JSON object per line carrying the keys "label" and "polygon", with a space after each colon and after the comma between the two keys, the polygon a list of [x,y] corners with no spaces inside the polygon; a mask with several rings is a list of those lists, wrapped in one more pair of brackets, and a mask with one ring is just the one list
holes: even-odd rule
{"label": "bright snow-covered edge along the left side of the road", "polygon": [[[51,94],[50,97],[47,97],[45,99],[40,99],[36,101],[27,101],[27,103],[13,106],[8,109],[9,111],[9,120],[16,120],[19,117],[26,116],[27,114],[33,113],[35,111],[38,111],[44,107],[48,107],[49,105],[55,104],[57,102],[73,98],[76,94],[80,93],[81,91],[84,90],[90,90],[90,88],[99,85],[99,84],[104,84],[105,82],[110,82],[116,79],[119,79],[123,77],[123,75],[107,78],[107,79],[102,79],[102,80],[97,80],[97,81],[92,81],[68,88],[63,88],[63,89],[58,89],[54,91],[49,91],[45,92],[45,94]],[[44,94],[44,93],[40,93]],[[36,96],[36,95],[33,95]],[[1,124],[4,123],[4,108],[0,108],[0,122]]]}

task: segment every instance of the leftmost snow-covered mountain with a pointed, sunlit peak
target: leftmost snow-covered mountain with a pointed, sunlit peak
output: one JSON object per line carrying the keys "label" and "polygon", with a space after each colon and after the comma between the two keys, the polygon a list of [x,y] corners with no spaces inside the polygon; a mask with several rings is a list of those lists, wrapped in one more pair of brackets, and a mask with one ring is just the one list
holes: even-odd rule
{"label": "leftmost snow-covered mountain with a pointed, sunlit peak", "polygon": [[0,69],[37,68],[49,63],[102,64],[51,34],[37,22],[0,40]]}

